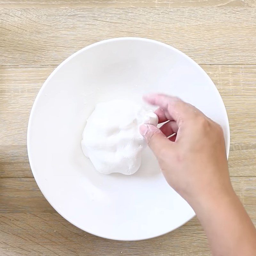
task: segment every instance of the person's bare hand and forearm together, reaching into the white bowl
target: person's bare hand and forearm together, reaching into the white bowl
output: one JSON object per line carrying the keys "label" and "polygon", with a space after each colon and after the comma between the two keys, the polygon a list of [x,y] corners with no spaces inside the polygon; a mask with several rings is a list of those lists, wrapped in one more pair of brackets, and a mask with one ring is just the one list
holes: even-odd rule
{"label": "person's bare hand and forearm together, reaching into the white bowl", "polygon": [[[157,157],[166,181],[194,209],[214,256],[255,256],[256,230],[236,196],[228,173],[222,128],[179,98],[150,94],[160,129],[140,133]],[[170,137],[172,135],[172,137]]]}

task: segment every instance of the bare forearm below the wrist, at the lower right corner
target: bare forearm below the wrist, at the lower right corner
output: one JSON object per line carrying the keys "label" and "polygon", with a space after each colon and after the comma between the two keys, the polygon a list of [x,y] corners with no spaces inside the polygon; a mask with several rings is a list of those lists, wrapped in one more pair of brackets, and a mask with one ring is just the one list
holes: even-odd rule
{"label": "bare forearm below the wrist, at the lower right corner", "polygon": [[214,256],[254,256],[256,230],[233,189],[192,206]]}

